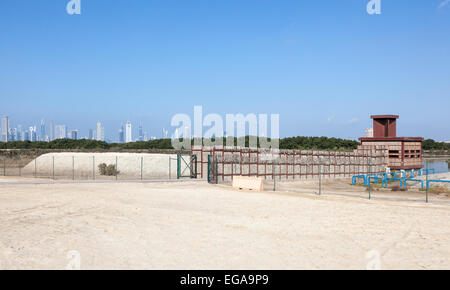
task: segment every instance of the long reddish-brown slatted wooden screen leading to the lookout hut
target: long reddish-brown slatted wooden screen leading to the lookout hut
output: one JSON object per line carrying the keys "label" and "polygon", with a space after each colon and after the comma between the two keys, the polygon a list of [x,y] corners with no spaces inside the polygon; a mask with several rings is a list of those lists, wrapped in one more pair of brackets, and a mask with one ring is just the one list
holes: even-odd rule
{"label": "long reddish-brown slatted wooden screen leading to the lookout hut", "polygon": [[[192,147],[197,155],[199,177],[207,177],[208,156],[214,160],[219,181],[231,181],[234,176],[261,177],[273,180],[314,179],[319,165],[324,178],[384,172],[388,165],[387,150],[383,146],[360,146],[353,152],[304,150],[264,150],[240,147]],[[369,159],[372,160],[369,172]]]}

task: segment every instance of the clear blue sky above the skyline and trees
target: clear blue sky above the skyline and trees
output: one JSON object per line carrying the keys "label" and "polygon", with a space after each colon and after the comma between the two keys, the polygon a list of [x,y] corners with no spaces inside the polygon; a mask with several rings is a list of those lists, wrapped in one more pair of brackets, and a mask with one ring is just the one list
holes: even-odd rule
{"label": "clear blue sky above the skyline and trees", "polygon": [[[371,114],[450,140],[443,0],[0,1],[0,115],[160,137],[176,113],[278,113],[281,136],[357,138]],[[446,1],[450,2],[450,1]]]}

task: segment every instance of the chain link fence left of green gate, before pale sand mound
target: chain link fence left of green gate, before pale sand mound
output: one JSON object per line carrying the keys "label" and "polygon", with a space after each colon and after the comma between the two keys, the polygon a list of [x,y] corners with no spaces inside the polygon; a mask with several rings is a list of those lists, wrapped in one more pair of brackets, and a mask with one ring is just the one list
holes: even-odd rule
{"label": "chain link fence left of green gate, before pale sand mound", "polygon": [[176,154],[50,153],[0,157],[4,177],[52,180],[164,180],[177,178]]}

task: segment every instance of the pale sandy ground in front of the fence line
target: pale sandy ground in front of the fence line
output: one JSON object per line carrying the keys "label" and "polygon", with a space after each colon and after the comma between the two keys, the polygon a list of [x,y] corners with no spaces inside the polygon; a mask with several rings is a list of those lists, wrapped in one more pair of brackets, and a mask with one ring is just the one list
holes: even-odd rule
{"label": "pale sandy ground in front of the fence line", "polygon": [[450,268],[447,197],[348,183],[0,184],[0,268]]}

